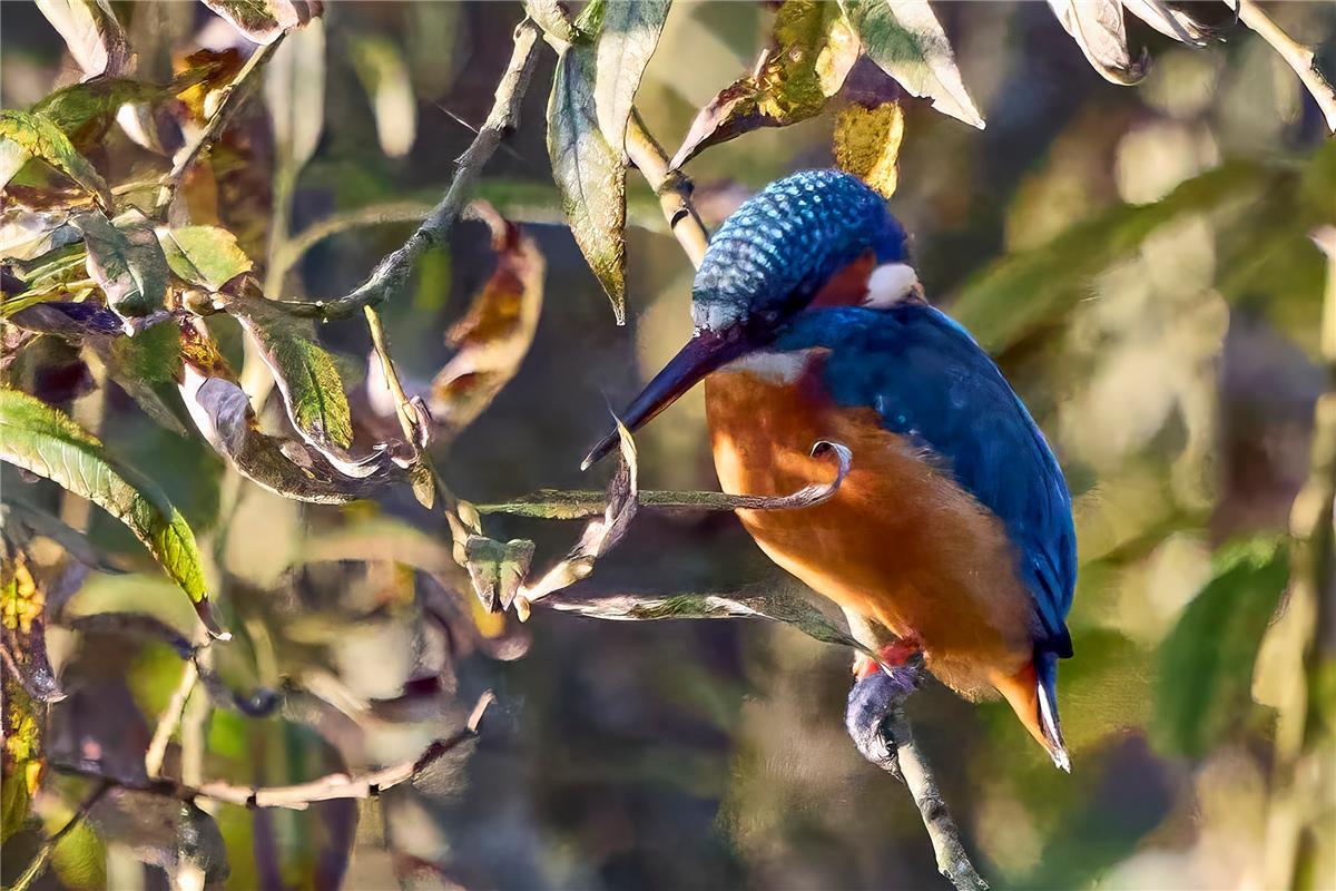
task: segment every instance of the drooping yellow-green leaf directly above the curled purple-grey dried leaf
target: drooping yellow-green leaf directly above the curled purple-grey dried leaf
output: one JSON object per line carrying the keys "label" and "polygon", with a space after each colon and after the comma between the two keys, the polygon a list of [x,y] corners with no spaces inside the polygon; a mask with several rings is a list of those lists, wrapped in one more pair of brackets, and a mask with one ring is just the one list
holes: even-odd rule
{"label": "drooping yellow-green leaf directly above the curled purple-grey dried leaf", "polygon": [[259,347],[302,438],[322,452],[351,445],[353,418],[343,379],[330,354],[315,342],[314,325],[257,298],[231,299],[226,309]]}

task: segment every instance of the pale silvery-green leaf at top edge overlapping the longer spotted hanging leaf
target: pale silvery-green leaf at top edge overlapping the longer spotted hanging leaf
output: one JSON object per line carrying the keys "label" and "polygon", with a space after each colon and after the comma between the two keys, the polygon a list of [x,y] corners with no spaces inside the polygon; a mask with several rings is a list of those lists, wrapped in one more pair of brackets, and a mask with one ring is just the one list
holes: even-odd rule
{"label": "pale silvery-green leaf at top edge overlapping the longer spotted hanging leaf", "polygon": [[621,151],[640,79],[659,45],[672,0],[637,0],[604,7],[595,47],[595,110],[604,139]]}

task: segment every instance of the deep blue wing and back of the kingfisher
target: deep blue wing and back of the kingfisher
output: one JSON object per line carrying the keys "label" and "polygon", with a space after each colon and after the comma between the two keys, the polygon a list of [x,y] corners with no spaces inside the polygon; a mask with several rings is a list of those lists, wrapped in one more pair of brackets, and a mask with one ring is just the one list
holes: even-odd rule
{"label": "deep blue wing and back of the kingfisher", "polygon": [[1030,413],[969,333],[923,303],[832,307],[799,315],[776,346],[830,347],[835,401],[874,407],[886,429],[927,448],[1002,520],[1047,635],[1043,648],[1070,656],[1071,496]]}

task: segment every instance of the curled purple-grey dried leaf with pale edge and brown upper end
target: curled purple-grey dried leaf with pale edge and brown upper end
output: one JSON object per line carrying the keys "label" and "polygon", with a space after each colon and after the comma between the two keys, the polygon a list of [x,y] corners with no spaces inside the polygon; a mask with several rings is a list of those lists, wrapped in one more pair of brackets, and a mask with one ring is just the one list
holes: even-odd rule
{"label": "curled purple-grey dried leaf with pale edge and brown upper end", "polygon": [[347,504],[403,478],[386,448],[343,473],[318,449],[259,430],[250,398],[208,338],[202,321],[182,323],[180,395],[191,421],[238,473],[286,498]]}

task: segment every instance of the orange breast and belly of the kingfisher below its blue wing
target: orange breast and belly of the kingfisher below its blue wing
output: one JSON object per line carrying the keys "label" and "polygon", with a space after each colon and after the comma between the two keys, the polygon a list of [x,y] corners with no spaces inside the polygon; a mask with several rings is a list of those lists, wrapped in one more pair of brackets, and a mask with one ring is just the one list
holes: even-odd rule
{"label": "orange breast and belly of the kingfisher below its blue wing", "polygon": [[830,480],[818,439],[852,450],[834,498],[802,510],[739,510],[780,566],[844,609],[922,641],[929,668],[966,695],[1027,664],[1034,610],[1002,522],[882,429],[871,409],[822,398],[815,370],[792,383],[724,370],[705,381],[725,492],[783,494]]}

